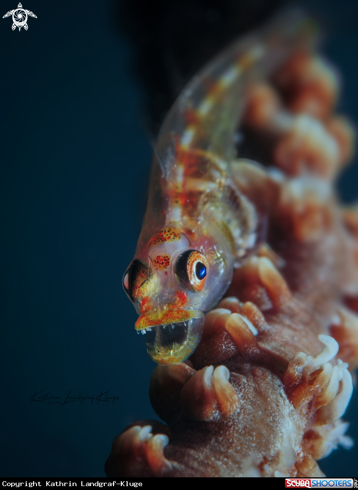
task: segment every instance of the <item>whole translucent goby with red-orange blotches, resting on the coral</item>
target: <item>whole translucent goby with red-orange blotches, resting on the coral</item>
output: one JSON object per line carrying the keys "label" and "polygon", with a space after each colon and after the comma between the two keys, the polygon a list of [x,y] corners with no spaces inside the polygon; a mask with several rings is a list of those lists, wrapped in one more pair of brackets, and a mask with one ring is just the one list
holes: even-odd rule
{"label": "whole translucent goby with red-orange blotches, resting on the coral", "polygon": [[205,314],[262,238],[262,215],[236,185],[245,92],[311,37],[293,16],[233,45],[191,80],[163,123],[142,232],[123,276],[140,315],[135,328],[155,331],[147,345],[158,364],[191,355]]}

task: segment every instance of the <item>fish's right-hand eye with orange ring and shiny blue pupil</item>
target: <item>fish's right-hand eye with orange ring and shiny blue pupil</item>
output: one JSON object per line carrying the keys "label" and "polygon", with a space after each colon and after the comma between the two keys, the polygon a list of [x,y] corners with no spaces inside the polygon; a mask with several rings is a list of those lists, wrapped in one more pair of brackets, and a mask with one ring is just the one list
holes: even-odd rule
{"label": "fish's right-hand eye with orange ring and shiny blue pupil", "polygon": [[175,274],[187,289],[201,291],[205,284],[208,268],[205,255],[198,250],[186,250],[179,255],[176,261]]}

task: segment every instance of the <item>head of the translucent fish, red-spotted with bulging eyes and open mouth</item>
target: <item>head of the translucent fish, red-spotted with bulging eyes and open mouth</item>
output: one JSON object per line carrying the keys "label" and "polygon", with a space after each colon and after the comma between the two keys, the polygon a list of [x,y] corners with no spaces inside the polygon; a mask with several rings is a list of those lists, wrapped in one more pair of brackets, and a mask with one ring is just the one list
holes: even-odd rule
{"label": "head of the translucent fish, red-spotted with bulging eyes and open mouth", "polygon": [[151,238],[125,271],[123,288],[140,315],[136,330],[151,332],[147,350],[153,361],[174,364],[191,355],[205,313],[221,299],[231,275],[208,237],[167,227]]}

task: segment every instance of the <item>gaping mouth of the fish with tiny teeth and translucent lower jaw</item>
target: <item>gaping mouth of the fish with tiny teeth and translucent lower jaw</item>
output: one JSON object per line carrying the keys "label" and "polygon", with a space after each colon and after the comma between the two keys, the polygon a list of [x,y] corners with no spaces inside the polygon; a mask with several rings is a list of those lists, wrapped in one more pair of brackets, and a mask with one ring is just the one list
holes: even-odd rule
{"label": "gaping mouth of the fish with tiny teeth and translucent lower jaw", "polygon": [[[177,364],[185,361],[201,340],[204,317],[155,325],[142,329],[148,336],[147,351],[157,364]],[[138,331],[140,333],[140,331]]]}

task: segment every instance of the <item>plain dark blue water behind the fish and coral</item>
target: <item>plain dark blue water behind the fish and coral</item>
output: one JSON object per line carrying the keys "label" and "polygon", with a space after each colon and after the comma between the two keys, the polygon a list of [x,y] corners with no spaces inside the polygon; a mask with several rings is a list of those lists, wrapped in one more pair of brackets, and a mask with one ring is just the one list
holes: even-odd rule
{"label": "plain dark blue water behind the fish and coral", "polygon": [[[29,1],[29,3],[27,3]],[[1,2],[0,17],[18,0]],[[340,107],[358,121],[354,1],[306,2],[326,26],[343,79]],[[133,50],[105,0],[24,0],[28,31],[0,18],[1,474],[104,476],[114,437],[156,418],[154,364],[121,289],[151,160]],[[358,167],[340,180],[358,196]],[[142,337],[142,336],[141,336]],[[120,396],[114,404],[30,404],[35,391]],[[346,414],[358,441],[357,394]],[[321,463],[352,476],[357,450]],[[353,471],[353,473],[352,473]]]}

